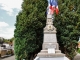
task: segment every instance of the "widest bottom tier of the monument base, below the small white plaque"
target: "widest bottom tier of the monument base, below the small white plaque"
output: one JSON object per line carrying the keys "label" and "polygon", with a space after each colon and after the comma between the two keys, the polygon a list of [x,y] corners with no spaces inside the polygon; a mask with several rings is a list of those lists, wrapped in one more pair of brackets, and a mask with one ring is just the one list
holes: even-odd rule
{"label": "widest bottom tier of the monument base, below the small white plaque", "polygon": [[34,60],[69,60],[69,59],[65,57],[65,55],[62,53],[57,54],[39,53]]}

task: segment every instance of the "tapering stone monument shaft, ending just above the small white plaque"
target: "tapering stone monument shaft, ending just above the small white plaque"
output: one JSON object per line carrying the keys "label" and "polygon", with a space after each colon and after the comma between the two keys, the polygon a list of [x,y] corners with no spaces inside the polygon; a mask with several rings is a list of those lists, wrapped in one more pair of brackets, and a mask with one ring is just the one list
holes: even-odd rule
{"label": "tapering stone monument shaft, ending just above the small white plaque", "polygon": [[47,50],[48,48],[59,49],[53,19],[52,15],[47,14],[46,27],[44,28],[43,50]]}

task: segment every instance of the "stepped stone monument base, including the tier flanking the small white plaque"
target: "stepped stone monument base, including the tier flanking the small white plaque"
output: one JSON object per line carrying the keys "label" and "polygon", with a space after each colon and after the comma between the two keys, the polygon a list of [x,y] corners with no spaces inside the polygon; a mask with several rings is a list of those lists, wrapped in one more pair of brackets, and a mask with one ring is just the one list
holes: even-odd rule
{"label": "stepped stone monument base, including the tier flanking the small white plaque", "polygon": [[34,60],[69,60],[65,54],[61,53],[60,50],[54,52],[48,52],[48,50],[41,50]]}

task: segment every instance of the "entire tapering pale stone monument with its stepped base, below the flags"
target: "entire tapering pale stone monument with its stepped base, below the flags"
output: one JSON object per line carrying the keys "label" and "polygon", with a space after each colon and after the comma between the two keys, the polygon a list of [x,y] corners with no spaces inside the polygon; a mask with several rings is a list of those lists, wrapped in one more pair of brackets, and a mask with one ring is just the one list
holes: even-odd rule
{"label": "entire tapering pale stone monument with its stepped base, below the flags", "polygon": [[53,26],[54,17],[47,14],[46,26],[44,28],[44,38],[42,50],[34,60],[69,60],[65,54],[59,50],[57,43],[56,28]]}

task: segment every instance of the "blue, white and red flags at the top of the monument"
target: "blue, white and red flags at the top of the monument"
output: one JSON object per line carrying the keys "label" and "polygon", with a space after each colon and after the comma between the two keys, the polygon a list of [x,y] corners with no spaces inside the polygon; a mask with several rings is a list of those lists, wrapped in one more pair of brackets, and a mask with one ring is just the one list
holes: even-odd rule
{"label": "blue, white and red flags at the top of the monument", "polygon": [[48,7],[47,7],[47,14],[56,14],[59,13],[57,0],[47,0],[48,1]]}

